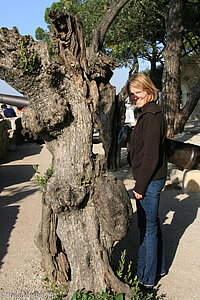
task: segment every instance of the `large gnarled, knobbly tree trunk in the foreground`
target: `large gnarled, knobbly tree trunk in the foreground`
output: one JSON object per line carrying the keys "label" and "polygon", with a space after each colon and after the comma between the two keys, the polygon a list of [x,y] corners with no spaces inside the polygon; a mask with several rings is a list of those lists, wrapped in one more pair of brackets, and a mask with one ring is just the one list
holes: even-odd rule
{"label": "large gnarled, knobbly tree trunk in the foreground", "polygon": [[[0,29],[0,77],[29,100],[23,126],[45,140],[53,157],[36,244],[50,279],[70,280],[68,299],[82,288],[111,287],[128,295],[110,256],[127,233],[132,206],[123,183],[103,172],[112,146],[114,64],[86,49],[78,17],[57,11],[50,18],[53,57],[45,43],[21,36],[16,27]],[[106,157],[92,153],[95,123]]]}

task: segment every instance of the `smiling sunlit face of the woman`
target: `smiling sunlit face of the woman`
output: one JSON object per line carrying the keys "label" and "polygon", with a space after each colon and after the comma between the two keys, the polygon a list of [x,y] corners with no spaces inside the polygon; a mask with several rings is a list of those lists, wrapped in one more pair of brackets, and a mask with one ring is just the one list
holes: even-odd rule
{"label": "smiling sunlit face of the woman", "polygon": [[143,107],[151,99],[151,96],[147,91],[141,90],[131,85],[129,87],[129,90],[131,100],[134,101],[135,105],[137,105],[137,107],[139,108]]}

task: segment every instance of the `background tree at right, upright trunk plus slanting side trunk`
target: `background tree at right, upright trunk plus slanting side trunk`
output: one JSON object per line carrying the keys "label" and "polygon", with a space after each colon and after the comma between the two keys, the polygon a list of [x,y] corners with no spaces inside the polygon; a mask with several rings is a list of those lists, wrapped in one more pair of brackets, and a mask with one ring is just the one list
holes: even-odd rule
{"label": "background tree at right, upright trunk plus slanting side trunk", "polygon": [[[191,2],[195,1],[189,3],[191,4]],[[186,10],[184,4],[183,0],[172,0],[166,8],[165,16],[167,43],[163,51],[165,63],[162,78],[162,106],[168,126],[167,136],[170,138],[174,137],[174,133],[183,131],[200,99],[199,80],[185,106],[181,109],[180,59],[188,50],[183,46],[184,31],[186,31],[183,26],[183,16]],[[188,15],[189,18],[192,18],[192,15]],[[190,40],[191,45],[194,45],[194,42],[196,42],[196,38]],[[198,52],[198,47],[195,48]]]}

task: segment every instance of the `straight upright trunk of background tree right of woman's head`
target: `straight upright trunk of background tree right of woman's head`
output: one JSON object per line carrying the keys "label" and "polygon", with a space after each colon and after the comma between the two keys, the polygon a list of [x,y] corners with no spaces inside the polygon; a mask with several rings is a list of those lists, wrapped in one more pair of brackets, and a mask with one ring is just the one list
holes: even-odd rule
{"label": "straight upright trunk of background tree right of woman's head", "polygon": [[167,136],[174,136],[174,121],[180,108],[180,58],[182,55],[183,1],[172,0],[166,8],[167,33],[162,77],[162,106],[167,122]]}

